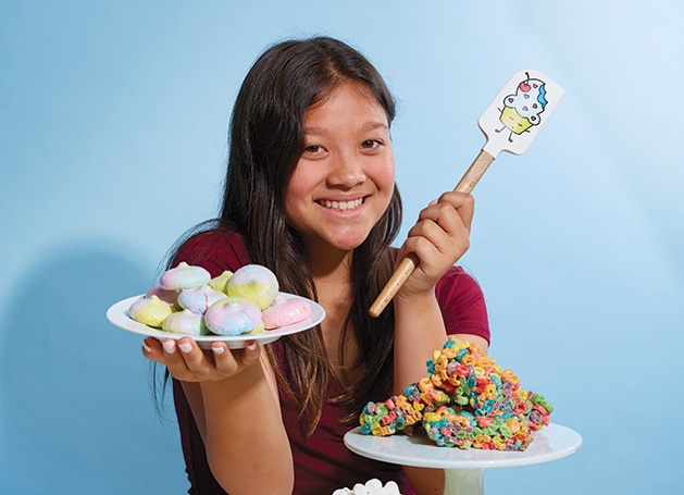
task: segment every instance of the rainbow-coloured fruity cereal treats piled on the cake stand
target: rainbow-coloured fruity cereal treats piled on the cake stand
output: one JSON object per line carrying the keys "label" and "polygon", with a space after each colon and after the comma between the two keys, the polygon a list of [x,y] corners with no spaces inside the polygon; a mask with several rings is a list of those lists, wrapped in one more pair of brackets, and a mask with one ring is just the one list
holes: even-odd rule
{"label": "rainbow-coloured fruity cereal treats piled on the cake stand", "polygon": [[361,431],[393,435],[420,424],[440,447],[524,450],[552,406],[468,342],[449,337],[427,361],[430,376],[384,403],[369,403]]}

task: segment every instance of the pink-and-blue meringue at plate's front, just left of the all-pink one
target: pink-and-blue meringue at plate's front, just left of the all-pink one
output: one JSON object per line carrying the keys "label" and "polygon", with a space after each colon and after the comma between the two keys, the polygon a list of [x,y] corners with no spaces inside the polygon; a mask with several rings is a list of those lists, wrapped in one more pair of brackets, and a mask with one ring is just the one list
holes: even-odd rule
{"label": "pink-and-blue meringue at plate's front, just left of the all-pink one", "polygon": [[224,336],[263,332],[259,306],[239,297],[226,297],[211,305],[204,313],[204,324],[210,332]]}

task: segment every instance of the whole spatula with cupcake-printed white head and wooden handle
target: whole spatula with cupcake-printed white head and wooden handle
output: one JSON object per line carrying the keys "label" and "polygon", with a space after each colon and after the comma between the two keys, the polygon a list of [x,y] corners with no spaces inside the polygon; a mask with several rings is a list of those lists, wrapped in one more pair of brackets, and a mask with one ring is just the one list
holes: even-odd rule
{"label": "whole spatula with cupcake-printed white head and wooden handle", "polygon": [[[453,190],[473,190],[501,151],[524,153],[563,92],[562,87],[538,71],[514,74],[480,116],[477,125],[487,140]],[[369,310],[373,318],[383,312],[418,262],[418,257],[410,253],[399,263]]]}

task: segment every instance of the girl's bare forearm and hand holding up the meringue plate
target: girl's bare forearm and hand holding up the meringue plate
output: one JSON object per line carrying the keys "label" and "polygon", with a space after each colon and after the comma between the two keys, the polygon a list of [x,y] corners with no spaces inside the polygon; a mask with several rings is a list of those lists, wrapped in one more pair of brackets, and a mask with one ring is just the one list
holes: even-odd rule
{"label": "girl's bare forearm and hand holding up the meringue plate", "polygon": [[211,471],[231,495],[291,494],[294,466],[272,370],[261,347],[204,354],[191,338],[146,339],[145,355],[181,380]]}

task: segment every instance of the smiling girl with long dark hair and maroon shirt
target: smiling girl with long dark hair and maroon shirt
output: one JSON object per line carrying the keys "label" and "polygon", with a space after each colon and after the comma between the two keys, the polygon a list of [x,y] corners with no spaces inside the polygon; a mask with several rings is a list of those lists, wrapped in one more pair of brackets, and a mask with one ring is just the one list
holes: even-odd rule
{"label": "smiling girl with long dark hair and maroon shirt", "polygon": [[[446,193],[400,250],[390,123],[395,102],[357,50],[319,37],[271,47],[233,110],[220,218],[172,258],[213,276],[270,268],[281,290],[316,300],[315,329],[202,351],[190,337],[145,355],[174,378],[191,494],[331,494],[371,478],[403,495],[442,493],[442,471],[372,461],[343,444],[369,400],[426,375],[447,334],[486,350],[483,295],[453,263],[469,247],[470,195]],[[380,318],[368,310],[395,263],[420,263]]]}

